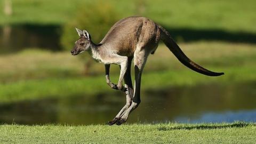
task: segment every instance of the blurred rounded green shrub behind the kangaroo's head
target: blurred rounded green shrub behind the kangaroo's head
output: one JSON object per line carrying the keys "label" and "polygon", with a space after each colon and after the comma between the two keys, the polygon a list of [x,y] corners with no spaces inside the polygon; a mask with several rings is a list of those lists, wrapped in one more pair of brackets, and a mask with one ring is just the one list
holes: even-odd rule
{"label": "blurred rounded green shrub behind the kangaroo's head", "polygon": [[[101,39],[107,34],[111,26],[119,20],[116,10],[106,2],[97,2],[93,4],[82,5],[78,7],[74,19],[70,19],[65,26],[63,26],[63,33],[61,36],[61,45],[65,50],[70,51],[74,46],[74,42],[79,38],[75,30],[85,29],[91,35],[94,43],[99,43]],[[88,54],[78,55],[84,61],[84,73],[90,73],[90,66],[92,59]]]}

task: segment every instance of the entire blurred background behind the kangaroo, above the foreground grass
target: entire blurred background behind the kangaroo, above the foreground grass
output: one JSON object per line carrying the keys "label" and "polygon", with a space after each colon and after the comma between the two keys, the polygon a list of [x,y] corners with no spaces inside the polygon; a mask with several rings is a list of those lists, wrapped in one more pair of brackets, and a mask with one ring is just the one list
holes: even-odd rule
{"label": "entire blurred background behind the kangaroo, above the foreground grass", "polygon": [[[106,84],[102,63],[69,51],[75,27],[99,43],[131,15],[159,23],[190,59],[225,75],[195,73],[161,43],[149,56],[142,102],[128,123],[256,122],[256,1],[2,0],[0,7],[1,124],[113,119],[125,94]],[[114,83],[118,76],[119,67],[111,66]]]}

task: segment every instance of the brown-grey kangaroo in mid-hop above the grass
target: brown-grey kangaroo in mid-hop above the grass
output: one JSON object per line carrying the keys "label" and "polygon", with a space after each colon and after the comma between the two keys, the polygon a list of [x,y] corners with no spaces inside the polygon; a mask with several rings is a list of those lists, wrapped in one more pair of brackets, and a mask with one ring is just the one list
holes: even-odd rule
{"label": "brown-grey kangaroo in mid-hop above the grass", "polygon": [[[207,76],[220,76],[224,73],[215,73],[191,61],[174,42],[169,32],[163,27],[145,17],[128,17],[119,20],[110,28],[99,44],[91,41],[91,36],[86,30],[76,28],[79,39],[71,51],[72,55],[88,51],[92,58],[105,64],[106,82],[115,90],[126,93],[126,104],[108,122],[109,125],[121,125],[127,121],[131,111],[137,108],[140,100],[140,83],[143,67],[148,55],[154,54],[160,40],[169,48],[175,57],[188,68]],[[131,64],[134,62],[134,90],[131,78]],[[117,84],[110,81],[110,64],[120,66],[120,76]],[[124,86],[122,84],[124,80]]]}

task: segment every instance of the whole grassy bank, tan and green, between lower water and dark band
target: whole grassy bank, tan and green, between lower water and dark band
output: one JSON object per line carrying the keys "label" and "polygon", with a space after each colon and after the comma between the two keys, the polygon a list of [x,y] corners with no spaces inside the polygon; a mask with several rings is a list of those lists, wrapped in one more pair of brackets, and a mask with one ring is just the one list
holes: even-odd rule
{"label": "whole grassy bank, tan and green, between lower water and dark band", "polygon": [[[230,84],[256,80],[254,45],[198,42],[180,46],[199,65],[223,71],[225,75],[208,77],[197,74],[183,66],[164,45],[160,45],[156,53],[150,55],[145,67],[142,91],[181,85]],[[94,62],[90,71],[94,74],[92,77],[83,76],[82,66],[82,62],[68,52],[28,50],[1,57],[0,67],[3,70],[0,71],[0,102],[116,92],[106,84],[101,63]],[[112,66],[110,77],[114,83],[117,82],[118,74],[119,68]]]}

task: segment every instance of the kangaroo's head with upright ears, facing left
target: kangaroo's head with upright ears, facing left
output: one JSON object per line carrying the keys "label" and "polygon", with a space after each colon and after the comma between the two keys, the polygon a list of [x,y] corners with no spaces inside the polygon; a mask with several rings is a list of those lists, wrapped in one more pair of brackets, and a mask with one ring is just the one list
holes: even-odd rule
{"label": "kangaroo's head with upright ears, facing left", "polygon": [[90,35],[86,30],[80,30],[76,28],[76,31],[79,35],[79,39],[75,42],[75,46],[73,47],[73,50],[71,51],[72,55],[77,55],[79,53],[85,52],[90,49],[91,41],[90,41]]}

